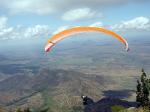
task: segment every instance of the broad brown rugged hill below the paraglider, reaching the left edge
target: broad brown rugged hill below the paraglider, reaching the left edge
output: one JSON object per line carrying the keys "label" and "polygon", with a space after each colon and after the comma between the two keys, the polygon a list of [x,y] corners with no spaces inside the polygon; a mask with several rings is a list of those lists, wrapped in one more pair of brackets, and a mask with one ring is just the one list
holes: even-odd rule
{"label": "broad brown rugged hill below the paraglider, reaching the left edge", "polygon": [[81,104],[82,94],[99,99],[111,83],[99,75],[42,69],[37,75],[15,75],[0,81],[0,104],[6,108],[49,104],[52,109],[60,105],[70,108]]}

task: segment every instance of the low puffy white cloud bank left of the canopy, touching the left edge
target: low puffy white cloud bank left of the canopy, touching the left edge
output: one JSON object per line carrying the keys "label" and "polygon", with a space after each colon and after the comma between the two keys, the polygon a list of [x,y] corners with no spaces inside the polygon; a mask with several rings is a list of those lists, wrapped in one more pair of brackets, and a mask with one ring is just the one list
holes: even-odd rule
{"label": "low puffy white cloud bank left of the canopy, touching the left edge", "polygon": [[35,25],[33,27],[7,25],[6,17],[0,17],[0,39],[25,39],[47,37],[51,34],[51,29],[47,25]]}

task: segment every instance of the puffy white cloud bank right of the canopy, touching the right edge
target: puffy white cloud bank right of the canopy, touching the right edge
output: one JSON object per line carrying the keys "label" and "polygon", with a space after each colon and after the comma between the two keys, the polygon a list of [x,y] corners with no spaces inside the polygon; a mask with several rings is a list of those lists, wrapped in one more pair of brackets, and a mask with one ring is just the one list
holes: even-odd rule
{"label": "puffy white cloud bank right of the canopy, touching the right edge", "polygon": [[147,17],[136,17],[132,20],[123,21],[120,24],[115,24],[111,26],[111,29],[117,31],[125,30],[149,30],[150,20]]}

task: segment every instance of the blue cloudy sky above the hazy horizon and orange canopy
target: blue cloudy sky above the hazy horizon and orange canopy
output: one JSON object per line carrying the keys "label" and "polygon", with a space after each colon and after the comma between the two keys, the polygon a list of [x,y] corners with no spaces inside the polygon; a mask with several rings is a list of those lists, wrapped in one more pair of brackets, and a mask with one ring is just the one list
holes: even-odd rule
{"label": "blue cloudy sky above the hazy horizon and orange canopy", "polygon": [[0,0],[0,42],[48,38],[75,26],[150,35],[150,0]]}

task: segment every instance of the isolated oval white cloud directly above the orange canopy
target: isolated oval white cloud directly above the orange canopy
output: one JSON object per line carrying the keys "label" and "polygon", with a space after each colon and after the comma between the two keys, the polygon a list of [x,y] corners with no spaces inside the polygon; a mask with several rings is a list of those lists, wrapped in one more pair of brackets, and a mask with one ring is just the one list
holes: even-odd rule
{"label": "isolated oval white cloud directly above the orange canopy", "polygon": [[79,8],[79,9],[67,11],[62,16],[62,19],[66,21],[74,21],[83,18],[92,18],[93,16],[96,16],[95,11],[92,11],[89,8]]}

